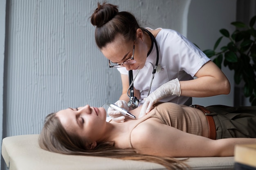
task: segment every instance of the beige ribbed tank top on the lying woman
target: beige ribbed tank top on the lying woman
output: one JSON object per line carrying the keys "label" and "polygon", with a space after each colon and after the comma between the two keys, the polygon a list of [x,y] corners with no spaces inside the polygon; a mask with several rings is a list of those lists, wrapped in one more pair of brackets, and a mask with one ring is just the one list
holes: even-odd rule
{"label": "beige ribbed tank top on the lying woman", "polygon": [[[164,102],[155,105],[155,108],[151,110],[146,116],[140,119],[135,124],[133,129],[149,118],[158,118],[168,126],[173,126],[181,131],[191,133],[194,135],[202,136],[202,124],[198,113],[192,108],[185,105],[177,105],[171,102]],[[133,131],[132,129],[132,131]],[[129,142],[132,147],[130,136]]]}

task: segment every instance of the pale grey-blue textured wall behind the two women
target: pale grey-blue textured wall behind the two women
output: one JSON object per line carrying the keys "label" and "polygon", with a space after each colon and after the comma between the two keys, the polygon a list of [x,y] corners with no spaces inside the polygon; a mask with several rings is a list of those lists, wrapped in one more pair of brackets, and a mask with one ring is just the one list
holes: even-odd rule
{"label": "pale grey-blue textured wall behind the two women", "polygon": [[[4,135],[39,133],[48,113],[121,95],[116,69],[96,47],[89,17],[94,0],[10,0]],[[190,1],[108,0],[151,28],[186,34]],[[185,31],[184,31],[185,30]]]}

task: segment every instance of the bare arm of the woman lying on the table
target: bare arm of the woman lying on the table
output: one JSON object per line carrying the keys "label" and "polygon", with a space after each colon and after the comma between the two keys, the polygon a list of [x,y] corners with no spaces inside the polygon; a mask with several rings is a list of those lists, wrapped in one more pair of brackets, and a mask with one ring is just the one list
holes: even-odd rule
{"label": "bare arm of the woman lying on the table", "polygon": [[139,153],[170,157],[225,157],[234,155],[235,144],[252,144],[256,139],[212,140],[185,133],[174,127],[146,120],[131,134],[132,146]]}

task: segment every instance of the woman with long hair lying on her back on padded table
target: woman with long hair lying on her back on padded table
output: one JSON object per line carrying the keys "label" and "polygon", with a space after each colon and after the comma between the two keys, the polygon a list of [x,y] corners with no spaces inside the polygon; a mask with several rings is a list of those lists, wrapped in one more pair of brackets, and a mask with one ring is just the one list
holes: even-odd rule
{"label": "woman with long hair lying on her back on padded table", "polygon": [[[140,109],[130,113],[137,117]],[[49,114],[39,145],[56,153],[152,161],[182,169],[183,163],[171,157],[227,157],[234,155],[236,144],[256,143],[256,107],[194,108],[166,102],[122,123],[106,122],[106,115],[103,107],[89,105]]]}

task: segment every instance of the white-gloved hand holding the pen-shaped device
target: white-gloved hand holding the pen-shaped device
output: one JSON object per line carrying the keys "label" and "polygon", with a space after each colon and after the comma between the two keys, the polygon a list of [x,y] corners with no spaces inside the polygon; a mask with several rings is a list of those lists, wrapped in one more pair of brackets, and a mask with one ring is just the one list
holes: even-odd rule
{"label": "white-gloved hand holding the pen-shaped device", "polygon": [[[115,105],[129,111],[127,102],[124,100],[117,100],[117,102],[115,102]],[[115,122],[124,122],[124,119],[125,119],[125,116],[122,115],[120,111],[114,110],[111,107],[108,108],[108,116],[110,116],[110,118]]]}

